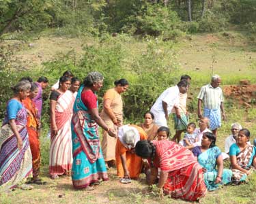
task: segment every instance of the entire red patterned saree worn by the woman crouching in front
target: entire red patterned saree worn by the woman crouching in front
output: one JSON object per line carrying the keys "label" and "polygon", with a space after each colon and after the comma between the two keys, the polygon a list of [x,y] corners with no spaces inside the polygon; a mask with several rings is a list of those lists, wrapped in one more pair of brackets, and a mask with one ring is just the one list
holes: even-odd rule
{"label": "entire red patterned saree worn by the woman crouching in front", "polygon": [[164,185],[165,194],[176,199],[197,201],[207,188],[203,182],[203,169],[192,152],[172,141],[153,141],[156,146],[154,165],[169,172]]}

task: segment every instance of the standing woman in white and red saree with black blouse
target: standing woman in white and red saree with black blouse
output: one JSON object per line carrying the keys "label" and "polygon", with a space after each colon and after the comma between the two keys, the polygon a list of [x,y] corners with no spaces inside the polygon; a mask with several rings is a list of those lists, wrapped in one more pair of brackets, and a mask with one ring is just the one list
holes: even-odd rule
{"label": "standing woman in white and red saree with black blouse", "polygon": [[71,80],[66,76],[59,79],[59,89],[50,95],[51,147],[50,176],[68,175],[72,168],[72,141],[70,123],[74,96],[70,88]]}

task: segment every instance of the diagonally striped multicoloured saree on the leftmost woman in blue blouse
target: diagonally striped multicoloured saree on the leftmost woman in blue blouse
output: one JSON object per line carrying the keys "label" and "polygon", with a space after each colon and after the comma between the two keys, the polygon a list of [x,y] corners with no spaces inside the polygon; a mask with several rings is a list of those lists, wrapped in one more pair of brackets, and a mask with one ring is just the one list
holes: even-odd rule
{"label": "diagonally striped multicoloured saree on the leftmost woman in blue blouse", "polygon": [[16,126],[23,140],[21,150],[10,124],[5,123],[0,130],[0,188],[14,188],[18,182],[32,172],[32,156],[27,134],[27,111],[23,106],[17,113]]}

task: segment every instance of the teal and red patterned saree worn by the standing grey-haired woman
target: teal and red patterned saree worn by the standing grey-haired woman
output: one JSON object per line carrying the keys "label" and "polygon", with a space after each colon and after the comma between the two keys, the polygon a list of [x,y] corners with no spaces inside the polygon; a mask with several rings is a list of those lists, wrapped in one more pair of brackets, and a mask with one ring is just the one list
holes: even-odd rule
{"label": "teal and red patterned saree worn by the standing grey-haired woman", "polygon": [[73,165],[72,182],[76,189],[86,188],[102,179],[109,180],[100,148],[98,124],[91,119],[78,91],[72,117]]}

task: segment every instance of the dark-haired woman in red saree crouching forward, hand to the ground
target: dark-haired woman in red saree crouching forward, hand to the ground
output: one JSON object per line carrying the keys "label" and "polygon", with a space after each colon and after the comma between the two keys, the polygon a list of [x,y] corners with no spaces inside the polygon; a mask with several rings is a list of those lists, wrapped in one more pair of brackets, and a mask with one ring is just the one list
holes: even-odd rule
{"label": "dark-haired woman in red saree crouching forward, hand to the ground", "polygon": [[192,152],[173,141],[138,141],[135,152],[148,158],[151,166],[150,184],[154,184],[157,168],[160,168],[158,188],[160,194],[169,194],[175,199],[197,201],[205,196],[203,169]]}

